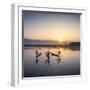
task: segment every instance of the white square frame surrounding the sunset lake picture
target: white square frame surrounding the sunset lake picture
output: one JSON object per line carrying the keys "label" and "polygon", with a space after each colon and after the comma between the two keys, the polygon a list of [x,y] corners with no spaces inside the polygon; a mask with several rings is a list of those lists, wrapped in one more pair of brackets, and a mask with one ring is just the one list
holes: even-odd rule
{"label": "white square frame surrounding the sunset lake picture", "polygon": [[[81,41],[81,75],[73,76],[49,76],[49,77],[34,77],[30,79],[22,79],[22,10],[35,11],[52,11],[52,12],[66,12],[66,13],[81,13],[80,21],[80,41]],[[30,85],[44,85],[45,82],[38,83],[40,79],[60,79],[59,83],[69,82],[85,82],[87,81],[86,60],[84,53],[84,34],[86,32],[86,9],[85,8],[68,8],[68,7],[36,7],[25,4],[12,4],[11,7],[11,29],[12,29],[12,55],[11,55],[11,85],[12,86],[30,86]],[[34,80],[33,80],[34,79]],[[35,80],[36,79],[36,80]]]}

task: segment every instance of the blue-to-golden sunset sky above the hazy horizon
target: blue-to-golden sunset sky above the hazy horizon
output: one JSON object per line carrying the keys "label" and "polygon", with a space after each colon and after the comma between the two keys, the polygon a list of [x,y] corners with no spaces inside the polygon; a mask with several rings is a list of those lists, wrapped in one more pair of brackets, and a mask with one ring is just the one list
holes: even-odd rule
{"label": "blue-to-golden sunset sky above the hazy horizon", "polygon": [[80,14],[22,11],[24,39],[80,41]]}

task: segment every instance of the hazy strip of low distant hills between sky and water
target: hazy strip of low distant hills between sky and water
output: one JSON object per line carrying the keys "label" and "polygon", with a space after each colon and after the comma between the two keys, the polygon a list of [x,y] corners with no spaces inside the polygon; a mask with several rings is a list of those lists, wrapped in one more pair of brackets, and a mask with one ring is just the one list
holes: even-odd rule
{"label": "hazy strip of low distant hills between sky and water", "polygon": [[24,46],[80,46],[80,42],[59,42],[55,40],[24,39]]}

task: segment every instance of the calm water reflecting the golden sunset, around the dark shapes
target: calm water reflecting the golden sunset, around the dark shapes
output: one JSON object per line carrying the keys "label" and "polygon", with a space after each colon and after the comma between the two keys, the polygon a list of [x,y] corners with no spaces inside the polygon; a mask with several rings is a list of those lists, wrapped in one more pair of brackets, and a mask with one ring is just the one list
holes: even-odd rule
{"label": "calm water reflecting the golden sunset, around the dark shapes", "polygon": [[[42,52],[36,58],[35,51]],[[46,52],[53,52],[60,56],[46,57]],[[27,47],[24,48],[24,77],[80,75],[80,50],[68,48]]]}

